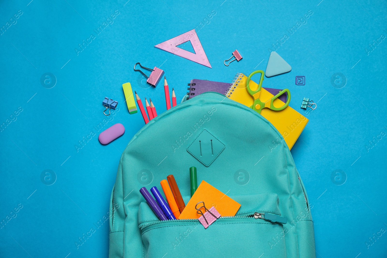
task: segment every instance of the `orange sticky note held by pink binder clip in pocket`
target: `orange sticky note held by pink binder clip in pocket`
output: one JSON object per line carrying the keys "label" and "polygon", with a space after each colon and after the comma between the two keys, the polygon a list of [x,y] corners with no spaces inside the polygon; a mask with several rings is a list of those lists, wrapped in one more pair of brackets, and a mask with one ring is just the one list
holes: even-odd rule
{"label": "orange sticky note held by pink binder clip in pocket", "polygon": [[195,209],[198,202],[204,202],[207,209],[214,206],[221,216],[234,216],[241,207],[239,203],[203,180],[190,201],[185,205],[179,219],[199,219],[201,215],[197,214]]}

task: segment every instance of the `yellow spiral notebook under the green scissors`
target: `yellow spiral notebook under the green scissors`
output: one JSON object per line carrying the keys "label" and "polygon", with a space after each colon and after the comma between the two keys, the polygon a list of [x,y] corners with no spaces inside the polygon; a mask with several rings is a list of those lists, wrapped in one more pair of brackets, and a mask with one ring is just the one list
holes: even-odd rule
{"label": "yellow spiral notebook under the green scissors", "polygon": [[[253,97],[248,94],[246,89],[247,76],[243,73],[237,73],[234,77],[233,83],[226,92],[226,96],[229,99],[235,100],[249,108],[253,105]],[[250,80],[250,88],[254,91],[258,89],[258,84]],[[268,101],[274,97],[270,92],[266,91],[263,87],[260,93],[260,100],[262,102]],[[276,99],[273,102],[274,106],[281,107],[284,103]],[[261,115],[269,120],[278,132],[284,137],[289,149],[293,147],[296,140],[300,136],[302,130],[308,123],[308,119],[302,114],[295,111],[290,106],[281,111],[273,111],[269,108],[264,108],[261,111]]]}

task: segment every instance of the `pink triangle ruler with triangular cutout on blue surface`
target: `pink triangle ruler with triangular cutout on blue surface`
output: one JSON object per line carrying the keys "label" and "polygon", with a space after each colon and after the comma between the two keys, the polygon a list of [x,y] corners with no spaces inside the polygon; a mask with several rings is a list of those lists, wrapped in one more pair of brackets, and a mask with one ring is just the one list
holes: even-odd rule
{"label": "pink triangle ruler with triangular cutout on blue surface", "polygon": [[[190,51],[183,50],[182,48],[176,47],[187,41],[191,41],[195,54]],[[200,65],[212,68],[207,56],[205,55],[202,44],[200,44],[200,40],[197,37],[195,29],[185,32],[175,38],[168,39],[163,43],[157,44],[155,47],[170,52],[172,54],[181,56],[183,58],[187,58],[188,60],[194,61],[196,63],[200,63]]]}

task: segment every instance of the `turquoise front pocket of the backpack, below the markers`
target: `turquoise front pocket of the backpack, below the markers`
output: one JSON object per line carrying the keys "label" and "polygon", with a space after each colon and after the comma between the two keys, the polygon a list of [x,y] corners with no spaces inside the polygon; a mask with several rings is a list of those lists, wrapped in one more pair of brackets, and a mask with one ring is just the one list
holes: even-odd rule
{"label": "turquoise front pocket of the backpack, below the markers", "polygon": [[[238,200],[236,196],[233,198]],[[266,194],[266,201],[267,198]],[[243,213],[238,212],[233,217],[221,217],[207,229],[197,219],[145,221],[144,216],[141,216],[140,213],[145,212],[146,203],[141,203],[139,227],[143,243],[143,257],[286,258],[283,225],[270,222],[257,215],[257,212],[265,213],[267,217],[281,215],[278,210],[277,195],[269,196],[270,198],[275,201],[270,211],[267,210],[268,207],[255,208],[250,212],[242,209]],[[252,200],[257,200],[257,198]],[[277,241],[276,245],[271,244],[273,238]]]}

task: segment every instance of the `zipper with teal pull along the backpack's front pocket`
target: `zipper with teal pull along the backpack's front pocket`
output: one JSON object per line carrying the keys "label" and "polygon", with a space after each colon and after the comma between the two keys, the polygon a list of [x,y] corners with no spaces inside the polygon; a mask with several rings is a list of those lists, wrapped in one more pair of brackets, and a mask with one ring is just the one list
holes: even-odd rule
{"label": "zipper with teal pull along the backpack's front pocket", "polygon": [[[270,213],[264,213],[264,212],[254,212],[254,213],[249,213],[247,215],[236,215],[236,216],[224,216],[220,217],[219,219],[264,219],[267,221],[270,221],[272,223],[281,223],[281,224],[286,224],[286,218],[281,217],[279,215],[274,215]],[[146,227],[155,225],[155,224],[161,224],[161,223],[175,223],[178,224],[179,222],[197,222],[200,223],[197,219],[177,219],[177,220],[158,220],[150,223],[140,223],[139,228],[140,230],[143,230]]]}

